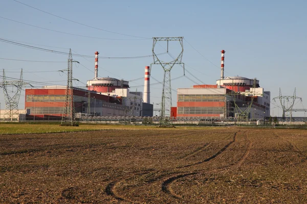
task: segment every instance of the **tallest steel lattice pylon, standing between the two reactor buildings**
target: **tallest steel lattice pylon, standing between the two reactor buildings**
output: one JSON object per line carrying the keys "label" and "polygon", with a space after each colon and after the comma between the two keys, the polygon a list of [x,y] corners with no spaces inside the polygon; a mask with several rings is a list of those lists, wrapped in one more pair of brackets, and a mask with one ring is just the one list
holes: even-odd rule
{"label": "tallest steel lattice pylon, standing between the two reactor buildings", "polygon": [[[159,126],[172,126],[172,117],[171,113],[171,77],[170,71],[175,64],[180,64],[183,67],[184,71],[184,63],[182,63],[183,56],[183,37],[153,37],[153,45],[152,45],[152,55],[153,55],[153,63],[150,64],[150,72],[151,66],[155,64],[160,64],[164,70],[163,75],[163,87],[162,87],[162,97],[161,97],[161,115],[159,119]],[[158,58],[158,55],[155,53],[155,46],[158,41],[164,41],[167,43],[167,50],[169,47],[169,41],[178,41],[181,45],[181,52],[179,53],[177,58],[172,57],[172,61],[163,62]]]}

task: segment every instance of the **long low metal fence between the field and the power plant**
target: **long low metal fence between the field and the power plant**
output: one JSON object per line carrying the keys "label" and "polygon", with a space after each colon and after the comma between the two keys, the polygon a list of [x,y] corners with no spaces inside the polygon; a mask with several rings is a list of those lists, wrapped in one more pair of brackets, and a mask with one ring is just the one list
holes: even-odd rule
{"label": "long low metal fence between the field and the power plant", "polygon": [[[169,117],[167,117],[170,119]],[[26,117],[19,122],[60,122],[60,116],[43,115],[40,117]],[[76,115],[76,121],[80,123],[99,123],[99,124],[124,124],[124,125],[158,125],[160,117],[124,117],[124,116],[90,116]],[[292,120],[269,120],[269,119],[249,119],[242,118],[218,118],[218,117],[177,117],[171,118],[173,125],[190,125],[190,126],[254,126],[254,127],[301,127],[307,126],[305,118]],[[0,122],[5,122],[1,121]],[[7,121],[9,122],[9,121]],[[17,121],[16,121],[17,122]]]}

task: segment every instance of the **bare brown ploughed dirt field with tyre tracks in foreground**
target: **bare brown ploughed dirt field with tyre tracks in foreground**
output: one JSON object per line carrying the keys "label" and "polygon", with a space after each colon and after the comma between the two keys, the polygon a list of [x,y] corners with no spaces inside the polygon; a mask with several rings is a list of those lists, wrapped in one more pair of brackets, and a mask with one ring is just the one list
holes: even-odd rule
{"label": "bare brown ploughed dirt field with tyre tracks in foreground", "polygon": [[0,135],[0,203],[307,203],[303,130]]}

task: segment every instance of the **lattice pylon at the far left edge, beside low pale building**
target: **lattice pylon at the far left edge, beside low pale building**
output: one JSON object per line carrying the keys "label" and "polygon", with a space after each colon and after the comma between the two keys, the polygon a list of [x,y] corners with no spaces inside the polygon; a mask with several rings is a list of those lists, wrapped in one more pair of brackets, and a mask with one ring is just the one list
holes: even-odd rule
{"label": "lattice pylon at the far left edge, beside low pale building", "polygon": [[[17,81],[7,81],[5,76],[5,71],[3,69],[3,82],[0,83],[0,86],[3,87],[4,98],[5,98],[5,112],[4,112],[4,120],[18,120],[18,103],[20,98],[20,93],[23,88],[23,85],[29,83],[25,83],[23,81],[23,69],[20,72],[20,79]],[[8,86],[12,86],[12,88],[16,87],[16,91],[12,91],[13,94],[8,91]]]}

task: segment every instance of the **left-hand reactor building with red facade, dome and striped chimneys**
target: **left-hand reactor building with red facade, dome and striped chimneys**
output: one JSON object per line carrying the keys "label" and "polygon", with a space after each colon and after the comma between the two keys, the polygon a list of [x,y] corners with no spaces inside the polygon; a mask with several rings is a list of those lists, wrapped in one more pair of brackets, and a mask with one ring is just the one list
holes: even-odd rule
{"label": "left-hand reactor building with red facade, dome and striped chimneys", "polygon": [[[149,104],[149,83],[145,78],[146,99],[142,92],[130,92],[127,81],[115,78],[98,78],[98,52],[95,53],[95,77],[86,83],[87,89],[73,88],[75,113],[87,116],[152,116],[153,105]],[[147,73],[145,68],[145,74]],[[60,117],[63,114],[67,86],[45,86],[26,89],[25,108],[32,116]],[[147,103],[148,101],[148,103]],[[146,107],[143,110],[143,106]],[[80,115],[80,114],[79,114]],[[34,118],[33,118],[34,119]]]}

